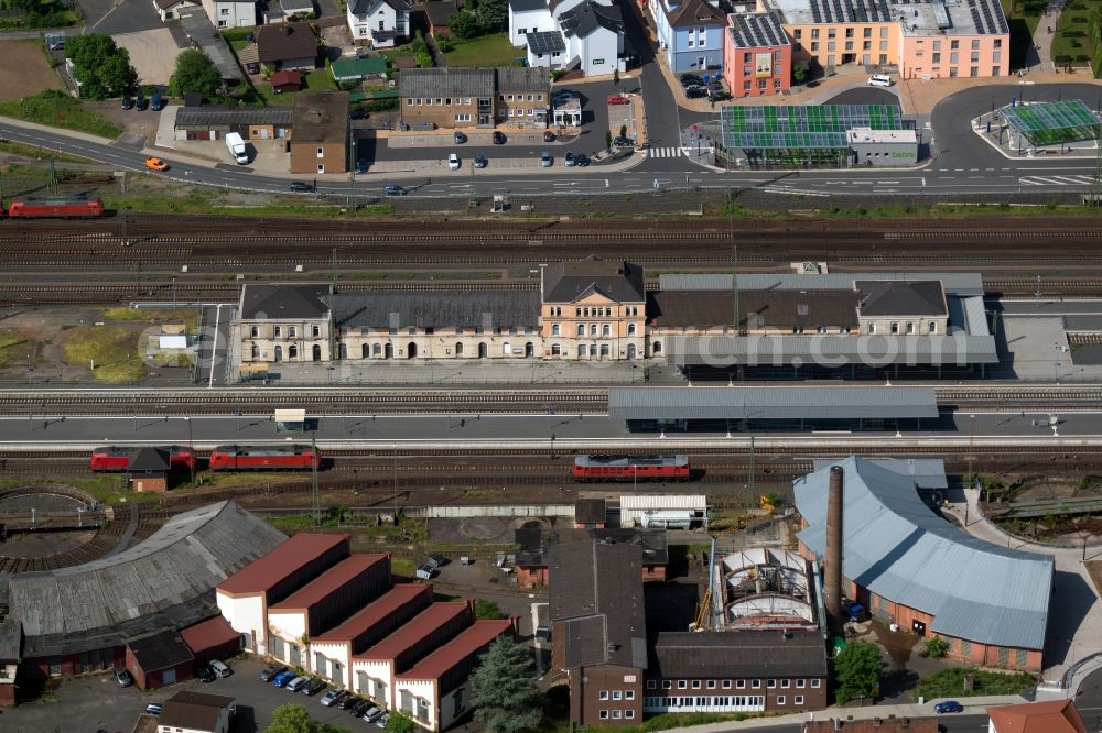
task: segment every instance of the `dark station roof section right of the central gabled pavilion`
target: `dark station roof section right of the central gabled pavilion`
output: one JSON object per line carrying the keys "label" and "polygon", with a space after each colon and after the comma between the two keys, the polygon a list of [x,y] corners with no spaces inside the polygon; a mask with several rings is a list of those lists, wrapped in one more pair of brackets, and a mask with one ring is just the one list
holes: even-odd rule
{"label": "dark station roof section right of the central gabled pavilion", "polygon": [[[856,329],[860,300],[847,291],[739,291],[738,325],[750,331]],[[658,291],[647,296],[647,319],[657,328],[731,326],[734,302],[734,293],[723,291]]]}

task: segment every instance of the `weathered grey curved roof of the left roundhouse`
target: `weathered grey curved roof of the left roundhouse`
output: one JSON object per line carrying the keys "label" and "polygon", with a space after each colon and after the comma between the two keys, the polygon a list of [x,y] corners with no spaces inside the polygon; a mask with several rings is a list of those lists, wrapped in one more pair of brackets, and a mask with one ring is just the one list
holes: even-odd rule
{"label": "weathered grey curved roof of the left roundhouse", "polygon": [[172,517],[121,553],[14,576],[8,595],[22,623],[23,656],[121,645],[209,619],[218,613],[214,587],[284,539],[235,502],[220,502]]}

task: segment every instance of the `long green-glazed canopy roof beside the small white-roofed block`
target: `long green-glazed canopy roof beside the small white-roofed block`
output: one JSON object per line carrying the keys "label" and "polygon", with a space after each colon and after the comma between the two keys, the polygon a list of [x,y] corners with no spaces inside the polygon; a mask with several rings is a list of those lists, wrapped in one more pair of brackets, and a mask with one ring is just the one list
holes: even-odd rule
{"label": "long green-glazed canopy roof beside the small white-roofed block", "polygon": [[723,146],[743,150],[840,150],[854,128],[905,130],[895,105],[727,105],[720,108]]}

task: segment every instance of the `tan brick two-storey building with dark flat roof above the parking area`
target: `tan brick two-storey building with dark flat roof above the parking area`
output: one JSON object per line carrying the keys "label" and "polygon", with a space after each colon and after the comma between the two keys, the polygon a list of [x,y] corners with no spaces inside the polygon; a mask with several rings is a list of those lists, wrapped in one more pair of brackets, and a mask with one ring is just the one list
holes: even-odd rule
{"label": "tan brick two-storey building with dark flat roof above the parking area", "polygon": [[409,68],[398,76],[402,124],[414,130],[494,127],[491,68]]}

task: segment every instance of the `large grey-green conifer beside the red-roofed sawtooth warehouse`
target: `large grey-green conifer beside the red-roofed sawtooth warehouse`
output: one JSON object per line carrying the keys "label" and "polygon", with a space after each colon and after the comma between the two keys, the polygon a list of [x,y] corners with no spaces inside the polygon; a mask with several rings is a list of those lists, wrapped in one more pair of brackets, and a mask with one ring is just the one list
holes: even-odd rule
{"label": "large grey-green conifer beside the red-roofed sawtooth warehouse", "polygon": [[510,638],[494,639],[471,675],[471,703],[487,733],[534,729],[543,710],[532,653]]}

